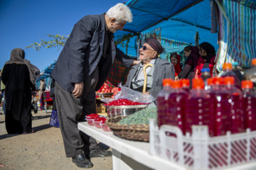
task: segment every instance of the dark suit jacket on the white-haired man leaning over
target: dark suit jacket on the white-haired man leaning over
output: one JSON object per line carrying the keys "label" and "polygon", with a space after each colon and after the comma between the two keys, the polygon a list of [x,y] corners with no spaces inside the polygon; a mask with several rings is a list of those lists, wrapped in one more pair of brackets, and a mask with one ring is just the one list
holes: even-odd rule
{"label": "dark suit jacket on the white-haired man leaning over", "polygon": [[106,55],[102,57],[105,27],[105,13],[85,16],[75,24],[51,74],[51,77],[66,91],[72,92],[75,83],[83,82],[97,65],[99,81],[96,91],[100,89],[107,79],[114,57],[125,66],[131,66],[134,60],[115,47],[113,33],[110,33],[110,44]]}

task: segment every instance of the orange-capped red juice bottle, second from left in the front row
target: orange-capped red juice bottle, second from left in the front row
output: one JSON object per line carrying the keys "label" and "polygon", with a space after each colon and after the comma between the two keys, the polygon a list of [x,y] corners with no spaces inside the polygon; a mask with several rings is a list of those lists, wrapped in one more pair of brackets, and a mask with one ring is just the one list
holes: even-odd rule
{"label": "orange-capped red juice bottle, second from left in the front row", "polygon": [[171,86],[171,93],[166,104],[167,125],[177,126],[185,135],[185,106],[188,94],[181,89],[181,81],[173,81]]}

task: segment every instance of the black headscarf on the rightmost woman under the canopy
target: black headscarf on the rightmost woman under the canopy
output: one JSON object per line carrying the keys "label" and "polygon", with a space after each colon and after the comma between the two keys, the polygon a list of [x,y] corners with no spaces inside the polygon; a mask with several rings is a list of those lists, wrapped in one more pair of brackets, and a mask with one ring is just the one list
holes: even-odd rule
{"label": "black headscarf on the rightmost woman under the canopy", "polygon": [[206,60],[206,63],[203,65],[203,68],[209,68],[210,59],[216,55],[215,48],[208,42],[202,42],[199,47],[203,48],[206,51],[206,56],[201,56],[203,60]]}

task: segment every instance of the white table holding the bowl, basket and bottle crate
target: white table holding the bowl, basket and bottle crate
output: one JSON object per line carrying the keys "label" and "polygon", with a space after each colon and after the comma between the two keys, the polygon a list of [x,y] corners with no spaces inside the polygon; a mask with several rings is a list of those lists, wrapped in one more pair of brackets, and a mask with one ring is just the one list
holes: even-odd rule
{"label": "white table holding the bowl, basket and bottle crate", "polygon": [[[170,170],[170,169],[183,169],[186,168],[168,162],[160,157],[155,157],[149,154],[149,143],[148,142],[135,142],[131,140],[124,140],[113,135],[113,132],[105,132],[102,129],[98,129],[95,126],[90,126],[87,122],[78,123],[78,129],[85,132],[87,135],[94,137],[96,140],[112,147],[112,164],[114,170],[121,169],[159,169],[159,170]],[[242,166],[235,166],[230,170],[240,169],[255,169],[256,162],[245,164]],[[226,169],[228,170],[228,169]]]}

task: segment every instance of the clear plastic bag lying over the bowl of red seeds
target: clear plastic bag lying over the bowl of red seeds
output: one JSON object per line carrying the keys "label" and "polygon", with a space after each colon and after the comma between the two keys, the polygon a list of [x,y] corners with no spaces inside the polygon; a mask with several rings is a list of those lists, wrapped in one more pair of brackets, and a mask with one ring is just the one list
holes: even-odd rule
{"label": "clear plastic bag lying over the bowl of red seeds", "polygon": [[137,101],[139,103],[151,103],[156,100],[156,98],[151,96],[151,94],[143,94],[142,92],[134,91],[133,89],[122,86],[121,84],[119,86],[121,87],[121,91],[114,96],[114,99],[102,98],[100,101],[109,103],[110,101],[116,101],[119,98],[126,98],[130,101]]}

